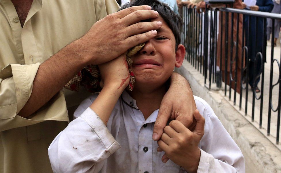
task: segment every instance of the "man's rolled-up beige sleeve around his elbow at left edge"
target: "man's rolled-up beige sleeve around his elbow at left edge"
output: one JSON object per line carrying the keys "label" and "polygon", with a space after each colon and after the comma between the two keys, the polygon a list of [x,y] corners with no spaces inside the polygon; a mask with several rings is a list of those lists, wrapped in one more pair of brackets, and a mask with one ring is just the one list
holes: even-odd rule
{"label": "man's rolled-up beige sleeve around his elbow at left edge", "polygon": [[39,65],[10,64],[0,71],[0,131],[45,120],[69,121],[63,91],[52,98],[52,103],[48,102],[39,109],[36,115],[28,118],[17,115],[31,95]]}

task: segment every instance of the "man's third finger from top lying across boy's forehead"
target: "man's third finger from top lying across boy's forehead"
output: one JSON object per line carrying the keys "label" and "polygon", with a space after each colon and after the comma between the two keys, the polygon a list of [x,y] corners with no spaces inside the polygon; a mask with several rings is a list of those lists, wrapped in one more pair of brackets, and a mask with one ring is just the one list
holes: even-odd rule
{"label": "man's third finger from top lying across boy's forehead", "polygon": [[162,27],[162,22],[138,22],[126,28],[125,32],[128,36],[141,34],[147,31],[157,30]]}

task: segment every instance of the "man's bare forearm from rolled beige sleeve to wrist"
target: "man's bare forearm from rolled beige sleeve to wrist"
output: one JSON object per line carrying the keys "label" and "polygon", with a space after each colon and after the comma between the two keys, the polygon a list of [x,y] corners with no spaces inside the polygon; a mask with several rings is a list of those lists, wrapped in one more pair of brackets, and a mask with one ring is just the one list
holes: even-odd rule
{"label": "man's bare forearm from rolled beige sleeve to wrist", "polygon": [[18,115],[26,118],[47,103],[56,93],[85,67],[78,41],[74,41],[42,63],[33,81],[32,93]]}

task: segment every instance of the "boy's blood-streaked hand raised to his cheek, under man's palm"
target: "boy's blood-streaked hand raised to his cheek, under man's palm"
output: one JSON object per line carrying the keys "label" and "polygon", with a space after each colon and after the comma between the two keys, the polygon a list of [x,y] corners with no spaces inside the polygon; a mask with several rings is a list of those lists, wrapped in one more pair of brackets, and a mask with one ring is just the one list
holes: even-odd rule
{"label": "boy's blood-streaked hand raised to his cheek, under man's palm", "polygon": [[128,64],[126,61],[126,54],[122,54],[119,57],[98,65],[100,69],[101,82],[100,86],[117,87],[116,89],[122,89],[122,91],[128,86],[130,81]]}

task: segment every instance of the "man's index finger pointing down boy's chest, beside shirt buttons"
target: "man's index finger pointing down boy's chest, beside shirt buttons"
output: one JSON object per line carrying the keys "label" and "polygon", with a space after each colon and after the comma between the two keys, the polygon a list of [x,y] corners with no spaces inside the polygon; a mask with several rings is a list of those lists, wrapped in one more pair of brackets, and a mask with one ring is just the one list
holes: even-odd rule
{"label": "man's index finger pointing down boy's chest, beside shirt buttons", "polygon": [[160,137],[163,133],[164,127],[167,125],[168,119],[171,116],[171,111],[172,111],[172,108],[170,108],[167,105],[164,105],[164,103],[162,105],[160,105],[158,116],[154,123],[153,135],[152,135],[153,140],[160,139]]}

